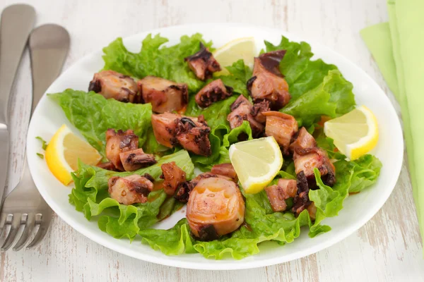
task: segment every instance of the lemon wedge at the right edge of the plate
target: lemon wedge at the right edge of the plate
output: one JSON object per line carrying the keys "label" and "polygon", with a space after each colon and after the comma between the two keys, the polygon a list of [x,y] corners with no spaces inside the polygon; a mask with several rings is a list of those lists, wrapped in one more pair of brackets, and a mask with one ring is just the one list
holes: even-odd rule
{"label": "lemon wedge at the right edge of the plate", "polygon": [[358,106],[348,114],[326,121],[324,133],[346,157],[358,159],[377,145],[377,118],[366,106]]}

